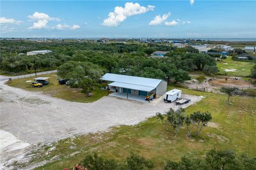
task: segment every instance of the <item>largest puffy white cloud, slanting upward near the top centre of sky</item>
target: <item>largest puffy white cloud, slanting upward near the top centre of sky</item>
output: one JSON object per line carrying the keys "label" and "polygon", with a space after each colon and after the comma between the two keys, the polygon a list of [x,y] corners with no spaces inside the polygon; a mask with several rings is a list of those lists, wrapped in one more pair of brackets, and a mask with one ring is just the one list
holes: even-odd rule
{"label": "largest puffy white cloud, slanting upward near the top centre of sky", "polygon": [[102,25],[108,27],[117,27],[127,17],[153,11],[154,8],[155,6],[153,5],[148,5],[145,7],[140,6],[139,3],[133,4],[132,2],[127,2],[124,4],[124,7],[116,6],[114,12],[109,12],[108,18],[103,21]]}

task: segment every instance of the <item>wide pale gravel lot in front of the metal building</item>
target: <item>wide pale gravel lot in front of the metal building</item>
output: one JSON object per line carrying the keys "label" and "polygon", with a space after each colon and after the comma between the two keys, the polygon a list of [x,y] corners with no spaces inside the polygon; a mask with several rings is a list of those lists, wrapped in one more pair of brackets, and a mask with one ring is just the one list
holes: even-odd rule
{"label": "wide pale gravel lot in front of the metal building", "polygon": [[[0,81],[0,87],[0,143],[4,145],[1,147],[2,165],[24,154],[29,148],[28,143],[50,143],[74,134],[104,131],[119,124],[133,125],[156,112],[178,108],[174,103],[164,103],[162,99],[142,103],[110,96],[93,103],[74,103],[9,87],[3,81]],[[182,97],[191,99],[183,107],[201,99],[189,95]]]}

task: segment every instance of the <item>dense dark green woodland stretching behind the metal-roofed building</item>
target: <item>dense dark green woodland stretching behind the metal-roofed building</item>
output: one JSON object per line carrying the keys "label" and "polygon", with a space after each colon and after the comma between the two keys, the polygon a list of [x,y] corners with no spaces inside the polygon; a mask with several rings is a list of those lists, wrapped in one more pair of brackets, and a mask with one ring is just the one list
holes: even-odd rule
{"label": "dense dark green woodland stretching behind the metal-roofed building", "polygon": [[[52,53],[26,55],[28,51],[43,49],[51,50]],[[166,58],[148,57],[155,50],[170,53],[167,53]],[[18,55],[20,53],[25,54]],[[82,72],[87,74],[88,70],[94,69],[97,70],[95,74],[111,72],[183,82],[189,80],[188,71],[205,69],[207,73],[218,71],[213,57],[199,54],[193,47],[176,48],[160,44],[146,46],[122,43],[1,41],[1,71],[29,72],[34,70],[34,63],[37,69],[58,69],[61,77],[65,78],[69,75],[69,79],[78,79],[75,72],[79,70],[84,70]],[[70,65],[72,65],[70,69],[65,71],[65,67]],[[67,72],[69,74],[66,74]],[[95,77],[98,78],[100,75]]]}

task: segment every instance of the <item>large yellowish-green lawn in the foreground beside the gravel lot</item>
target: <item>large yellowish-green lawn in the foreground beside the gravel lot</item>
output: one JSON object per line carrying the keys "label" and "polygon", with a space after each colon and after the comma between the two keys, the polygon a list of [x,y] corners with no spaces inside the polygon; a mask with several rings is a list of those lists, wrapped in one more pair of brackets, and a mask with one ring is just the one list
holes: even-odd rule
{"label": "large yellowish-green lawn in the foreground beside the gravel lot", "polygon": [[[173,87],[169,86],[168,89]],[[153,160],[155,169],[162,169],[166,160],[180,160],[183,155],[203,157],[212,148],[233,149],[237,154],[256,155],[256,98],[233,96],[227,106],[227,95],[178,89],[186,94],[205,97],[186,108],[186,112],[209,111],[214,126],[206,126],[199,136],[192,138],[188,138],[187,129],[182,128],[177,139],[173,140],[173,133],[166,131],[165,125],[156,117],[151,117],[134,126],[114,127],[108,132],[81,135],[39,149],[33,154],[39,153],[46,160],[55,159],[37,169],[71,169],[87,153],[92,152],[121,162],[131,152],[135,152]],[[50,151],[52,147],[55,149]],[[42,157],[37,156],[31,162],[43,161]]]}

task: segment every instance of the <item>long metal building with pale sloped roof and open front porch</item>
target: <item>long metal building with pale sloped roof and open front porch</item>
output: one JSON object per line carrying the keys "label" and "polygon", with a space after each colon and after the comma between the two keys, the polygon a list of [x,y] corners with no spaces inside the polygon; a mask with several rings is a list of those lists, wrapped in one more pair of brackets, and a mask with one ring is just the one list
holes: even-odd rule
{"label": "long metal building with pale sloped roof and open front porch", "polygon": [[167,82],[160,79],[106,73],[101,80],[111,81],[111,83],[108,84],[110,90],[127,94],[127,97],[128,94],[146,96],[151,93],[155,94],[157,97],[163,95],[167,89]]}

